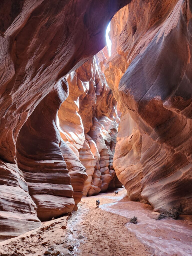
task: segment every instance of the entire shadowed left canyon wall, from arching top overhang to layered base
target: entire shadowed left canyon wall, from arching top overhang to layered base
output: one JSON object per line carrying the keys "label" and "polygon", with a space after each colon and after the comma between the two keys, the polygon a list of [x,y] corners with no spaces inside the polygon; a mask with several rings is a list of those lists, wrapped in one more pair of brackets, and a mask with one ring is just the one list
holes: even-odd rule
{"label": "entire shadowed left canyon wall, from arching top overhang to layered base", "polygon": [[[48,121],[46,114],[40,113],[41,107],[46,111],[46,104],[50,110],[54,100],[41,101],[62,77],[104,47],[111,17],[129,2],[1,1],[0,239],[36,228],[40,225],[37,215],[49,218],[50,208],[50,215],[62,213],[63,207],[72,209],[73,189],[59,149],[61,141],[53,131],[57,129],[56,116],[51,113],[52,120]],[[57,93],[54,97],[62,98]],[[38,116],[34,114],[28,120],[33,111]],[[28,137],[22,128],[24,124]],[[56,182],[61,174],[60,185],[66,185],[63,192]],[[68,198],[66,204],[65,198]],[[57,204],[61,207],[58,212]]]}

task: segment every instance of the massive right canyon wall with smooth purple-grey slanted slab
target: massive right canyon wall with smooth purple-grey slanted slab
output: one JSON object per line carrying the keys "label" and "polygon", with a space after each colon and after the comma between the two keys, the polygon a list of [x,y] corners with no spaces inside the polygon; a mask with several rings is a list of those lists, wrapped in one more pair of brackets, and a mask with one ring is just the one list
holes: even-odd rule
{"label": "massive right canyon wall with smooth purple-grey slanted slab", "polygon": [[135,0],[111,22],[106,80],[122,112],[113,166],[132,200],[192,213],[192,26],[187,0]]}

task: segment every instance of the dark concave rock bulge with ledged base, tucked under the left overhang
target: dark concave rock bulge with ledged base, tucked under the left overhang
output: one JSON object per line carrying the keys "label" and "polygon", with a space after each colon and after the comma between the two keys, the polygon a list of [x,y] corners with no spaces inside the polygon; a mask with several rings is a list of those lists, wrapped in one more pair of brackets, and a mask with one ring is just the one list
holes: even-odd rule
{"label": "dark concave rock bulge with ledged base, tucked under the left overhang", "polygon": [[67,96],[68,83],[63,78],[37,105],[17,138],[18,167],[42,221],[60,217],[74,207],[71,179],[56,126],[57,111]]}

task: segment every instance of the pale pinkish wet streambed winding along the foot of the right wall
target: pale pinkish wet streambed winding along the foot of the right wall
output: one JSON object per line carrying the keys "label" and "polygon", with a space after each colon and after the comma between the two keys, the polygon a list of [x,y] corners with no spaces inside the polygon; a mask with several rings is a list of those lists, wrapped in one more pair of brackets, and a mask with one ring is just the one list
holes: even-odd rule
{"label": "pale pinkish wet streambed winding along the foot of the right wall", "polygon": [[[115,200],[114,200],[115,198]],[[105,202],[111,200],[110,203]],[[126,228],[137,239],[153,250],[155,256],[191,256],[192,255],[192,216],[180,215],[178,220],[156,220],[158,213],[152,206],[130,201],[126,190],[119,189],[119,195],[101,194],[100,208],[117,216],[138,218],[138,224],[126,223]]]}

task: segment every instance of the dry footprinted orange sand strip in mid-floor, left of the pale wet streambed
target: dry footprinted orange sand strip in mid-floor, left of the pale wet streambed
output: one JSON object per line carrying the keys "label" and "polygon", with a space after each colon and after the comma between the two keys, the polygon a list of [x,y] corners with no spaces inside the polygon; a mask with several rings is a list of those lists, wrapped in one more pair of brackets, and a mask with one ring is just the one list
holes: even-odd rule
{"label": "dry footprinted orange sand strip in mid-floor, left of the pale wet streambed", "polygon": [[[106,195],[106,197],[105,197]],[[125,224],[126,217],[103,211],[103,204],[110,204],[116,198],[110,199],[104,195],[86,197],[82,199],[81,218],[76,223],[77,231],[85,237],[79,246],[79,255],[88,256],[117,256],[117,255],[153,255],[150,248],[142,244],[136,236],[130,232]],[[100,207],[95,207],[96,199],[100,199]],[[76,254],[78,255],[78,254]]]}

